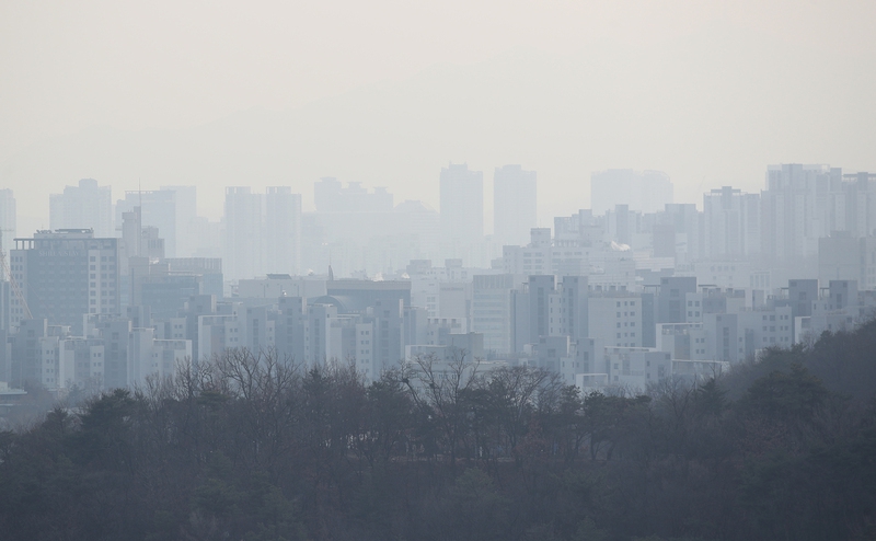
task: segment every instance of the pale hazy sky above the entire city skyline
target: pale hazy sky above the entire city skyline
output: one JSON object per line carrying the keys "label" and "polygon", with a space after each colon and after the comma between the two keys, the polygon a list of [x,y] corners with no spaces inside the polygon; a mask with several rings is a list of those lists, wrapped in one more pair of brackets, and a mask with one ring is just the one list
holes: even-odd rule
{"label": "pale hazy sky above the entire city skyline", "polygon": [[[539,214],[589,175],[667,172],[676,200],[763,188],[766,163],[876,170],[866,2],[4,2],[0,183],[20,234],[80,177],[124,189],[385,185],[438,207],[449,161],[539,173]],[[32,189],[38,186],[39,189]],[[485,216],[492,226],[489,210]]]}

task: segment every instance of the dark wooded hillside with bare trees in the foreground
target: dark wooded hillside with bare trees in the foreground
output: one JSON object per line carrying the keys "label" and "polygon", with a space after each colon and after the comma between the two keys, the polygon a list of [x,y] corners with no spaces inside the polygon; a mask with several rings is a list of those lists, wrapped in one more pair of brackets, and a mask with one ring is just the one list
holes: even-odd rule
{"label": "dark wooded hillside with bare trees in the foreground", "polygon": [[874,539],[875,391],[876,323],[642,395],[233,350],[0,433],[0,538]]}

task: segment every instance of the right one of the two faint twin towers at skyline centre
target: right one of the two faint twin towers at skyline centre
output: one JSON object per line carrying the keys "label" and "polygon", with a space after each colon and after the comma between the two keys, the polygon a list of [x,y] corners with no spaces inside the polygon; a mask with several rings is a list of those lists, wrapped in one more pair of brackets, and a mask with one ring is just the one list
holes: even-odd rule
{"label": "right one of the two faint twin towers at skyline centre", "polygon": [[493,173],[493,237],[500,245],[523,245],[538,226],[535,172],[520,165]]}

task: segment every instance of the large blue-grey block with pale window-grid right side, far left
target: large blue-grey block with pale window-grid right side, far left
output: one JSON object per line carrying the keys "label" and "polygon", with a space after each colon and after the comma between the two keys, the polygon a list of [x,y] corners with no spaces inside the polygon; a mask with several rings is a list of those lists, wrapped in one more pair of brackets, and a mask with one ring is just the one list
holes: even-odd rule
{"label": "large blue-grey block with pale window-grid right side, far left", "polygon": [[[38,231],[15,239],[10,260],[31,313],[49,325],[70,325],[81,335],[84,314],[120,312],[118,239],[89,229]],[[13,323],[21,319],[13,313]]]}

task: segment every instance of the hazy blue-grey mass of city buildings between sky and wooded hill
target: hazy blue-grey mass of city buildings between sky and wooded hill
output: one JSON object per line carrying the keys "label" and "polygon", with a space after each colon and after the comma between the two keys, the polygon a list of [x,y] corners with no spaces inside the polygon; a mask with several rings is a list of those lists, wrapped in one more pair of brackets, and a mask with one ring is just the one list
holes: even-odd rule
{"label": "hazy blue-grey mass of city buildings between sky and wooded hill", "polygon": [[82,180],[50,229],[15,235],[0,191],[0,381],[134,385],[233,348],[367,380],[402,360],[538,366],[581,389],[710,377],[769,347],[849,330],[876,310],[876,175],[771,165],[764,189],[673,203],[656,171],[591,176],[591,208],[537,227],[537,174],[450,164],[440,209],[385,188],[127,192]]}

